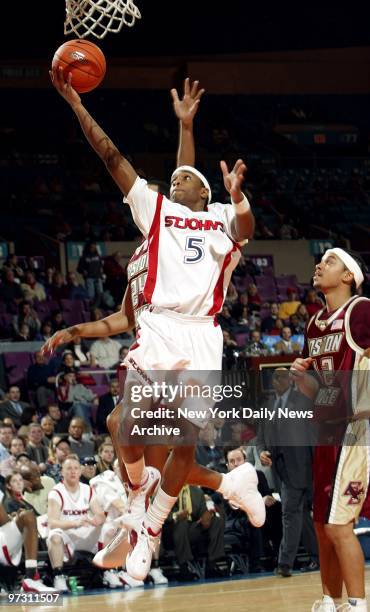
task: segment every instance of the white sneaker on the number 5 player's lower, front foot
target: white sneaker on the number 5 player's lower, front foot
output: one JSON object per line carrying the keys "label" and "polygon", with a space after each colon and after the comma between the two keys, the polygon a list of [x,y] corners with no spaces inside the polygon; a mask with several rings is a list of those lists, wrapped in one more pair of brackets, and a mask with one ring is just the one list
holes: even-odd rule
{"label": "white sneaker on the number 5 player's lower, front foot", "polygon": [[[153,535],[144,523],[140,529],[131,532],[132,551],[126,559],[126,571],[131,578],[145,580],[152,564],[153,553],[156,550],[161,534]],[[135,542],[136,539],[136,542]]]}

